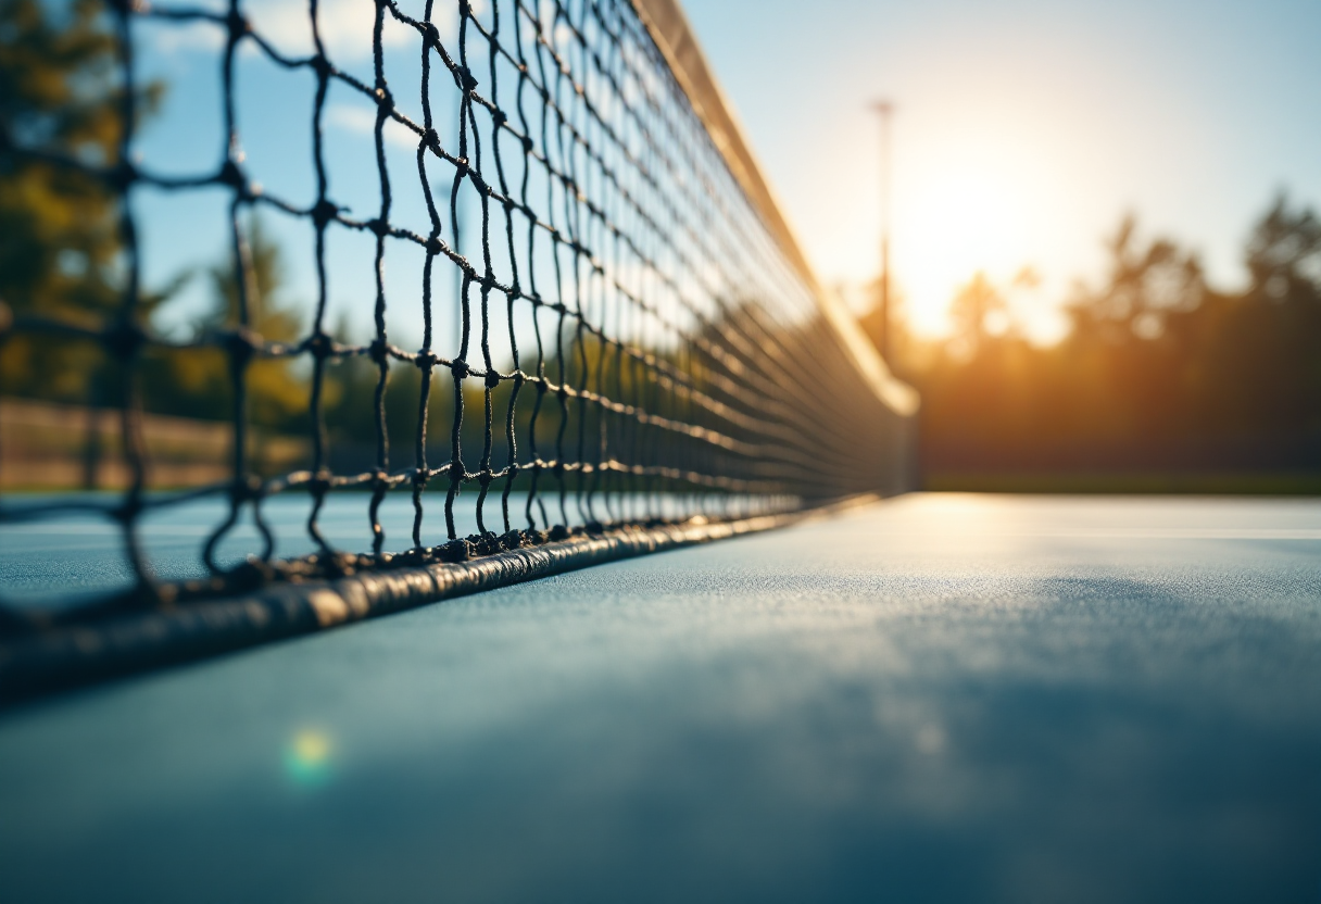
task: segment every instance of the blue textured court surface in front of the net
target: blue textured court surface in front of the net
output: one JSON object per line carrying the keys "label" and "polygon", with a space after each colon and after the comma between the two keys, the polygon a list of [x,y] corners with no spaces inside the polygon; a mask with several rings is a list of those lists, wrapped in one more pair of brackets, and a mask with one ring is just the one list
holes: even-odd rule
{"label": "blue textured court surface in front of the net", "polygon": [[1321,901],[1321,502],[911,496],[0,715],[7,901]]}

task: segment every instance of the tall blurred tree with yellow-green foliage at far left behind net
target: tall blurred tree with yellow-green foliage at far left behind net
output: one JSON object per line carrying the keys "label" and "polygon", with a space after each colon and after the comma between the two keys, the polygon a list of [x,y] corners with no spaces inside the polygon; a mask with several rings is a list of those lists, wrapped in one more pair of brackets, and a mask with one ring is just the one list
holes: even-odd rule
{"label": "tall blurred tree with yellow-green foliage at far left behind net", "polygon": [[[99,325],[122,293],[118,197],[100,178],[25,153],[118,164],[124,123],[115,42],[103,7],[0,0],[0,300],[15,313]],[[153,110],[162,86],[137,98]],[[161,296],[144,299],[144,309]],[[15,336],[0,356],[4,391],[85,400],[99,356],[67,340]]]}

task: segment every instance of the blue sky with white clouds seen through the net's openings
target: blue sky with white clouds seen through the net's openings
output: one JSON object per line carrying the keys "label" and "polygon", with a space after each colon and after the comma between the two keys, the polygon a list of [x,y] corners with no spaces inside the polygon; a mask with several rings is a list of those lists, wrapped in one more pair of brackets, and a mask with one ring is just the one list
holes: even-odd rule
{"label": "blue sky with white clouds seen through the net's openings", "polygon": [[[225,8],[222,0],[201,0],[198,5]],[[404,0],[402,5],[407,12],[419,12],[417,0]],[[312,52],[306,0],[250,0],[243,9],[255,30],[280,52],[291,57]],[[450,44],[456,38],[456,9],[454,3],[437,3],[436,21],[441,38]],[[326,53],[341,70],[369,85],[373,81],[373,20],[371,0],[320,3]],[[386,22],[387,77],[392,85],[407,86],[398,90],[396,100],[400,110],[420,122],[415,87],[420,79],[416,34],[390,17]],[[222,91],[218,65],[223,32],[211,22],[177,24],[151,19],[136,19],[133,28],[140,49],[140,78],[159,81],[166,87],[161,108],[145,122],[136,143],[141,165],[153,173],[174,176],[214,172],[226,145],[219,115]],[[306,69],[275,66],[250,42],[242,46],[234,91],[244,173],[264,194],[308,207],[316,201],[310,128],[314,78]],[[457,144],[452,128],[457,122],[453,94],[444,90],[435,93],[436,128],[446,147]],[[332,82],[324,115],[330,193],[337,205],[358,219],[374,217],[380,204],[374,123],[375,112],[370,102]],[[417,140],[398,124],[386,130],[386,139],[396,189],[391,222],[427,234],[429,219],[417,190]],[[429,176],[436,185],[448,186],[452,174],[443,169],[429,164]],[[164,285],[181,274],[192,275],[162,311],[159,326],[166,332],[188,334],[198,315],[213,304],[205,271],[227,260],[229,198],[229,189],[219,188],[172,193],[144,186],[135,193],[147,284]],[[466,197],[466,201],[474,207],[469,215],[476,218],[474,198]],[[269,209],[260,210],[259,217],[266,233],[280,248],[285,283],[283,303],[308,319],[317,284],[312,226],[306,218],[292,218]],[[448,215],[444,219],[448,221]],[[328,230],[326,237],[326,326],[350,341],[366,342],[374,334],[375,239],[369,233],[343,229]],[[468,230],[465,238],[468,241],[460,250],[480,260],[480,246],[474,243],[477,230]],[[423,254],[407,242],[395,242],[390,255],[384,272],[391,336],[406,348],[419,348],[423,341],[419,282]],[[452,268],[443,267],[439,272],[443,278],[436,280],[433,291],[439,300],[437,309],[446,313],[440,315],[436,336],[441,348],[452,350],[457,346],[458,332],[457,315],[453,313],[457,311],[457,279],[452,279]],[[304,322],[304,326],[308,324]]]}

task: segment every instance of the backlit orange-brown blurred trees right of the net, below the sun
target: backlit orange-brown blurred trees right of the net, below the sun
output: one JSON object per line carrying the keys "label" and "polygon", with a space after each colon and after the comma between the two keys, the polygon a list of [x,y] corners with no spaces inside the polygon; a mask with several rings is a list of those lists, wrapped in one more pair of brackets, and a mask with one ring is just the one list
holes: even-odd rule
{"label": "backlit orange-brown blurred trees right of the net, below the sun", "polygon": [[[1107,252],[1100,284],[1065,303],[1069,329],[1055,345],[1007,324],[1015,287],[982,274],[954,299],[948,338],[900,334],[894,366],[922,393],[929,482],[1174,489],[1197,484],[1160,477],[1321,473],[1316,213],[1275,200],[1251,230],[1238,292],[1209,285],[1178,242],[1140,241],[1131,217]],[[875,322],[864,319],[873,334]],[[1098,474],[1155,480],[1087,480]]]}

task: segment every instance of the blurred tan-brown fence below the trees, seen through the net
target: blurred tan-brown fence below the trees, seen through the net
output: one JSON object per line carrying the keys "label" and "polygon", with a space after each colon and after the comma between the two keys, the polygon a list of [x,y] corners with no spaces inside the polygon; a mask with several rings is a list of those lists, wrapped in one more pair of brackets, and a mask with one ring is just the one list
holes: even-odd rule
{"label": "blurred tan-brown fence below the trees, seen through the net", "polygon": [[[141,423],[148,486],[199,486],[232,474],[231,424],[152,414]],[[283,472],[310,460],[310,443],[255,433],[248,456],[259,472]],[[0,398],[0,488],[123,489],[128,480],[118,410]]]}

